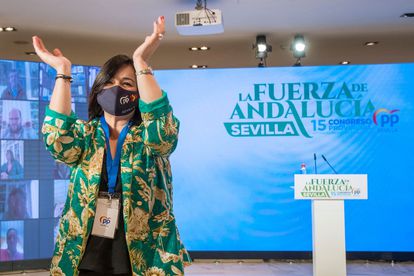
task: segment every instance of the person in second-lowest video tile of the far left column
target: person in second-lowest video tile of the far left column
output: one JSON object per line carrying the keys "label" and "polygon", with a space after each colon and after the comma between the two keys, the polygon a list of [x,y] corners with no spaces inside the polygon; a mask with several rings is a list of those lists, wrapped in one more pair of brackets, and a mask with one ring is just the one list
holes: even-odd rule
{"label": "person in second-lowest video tile of the far left column", "polygon": [[19,220],[29,218],[26,207],[26,193],[21,188],[13,188],[7,200],[5,220]]}

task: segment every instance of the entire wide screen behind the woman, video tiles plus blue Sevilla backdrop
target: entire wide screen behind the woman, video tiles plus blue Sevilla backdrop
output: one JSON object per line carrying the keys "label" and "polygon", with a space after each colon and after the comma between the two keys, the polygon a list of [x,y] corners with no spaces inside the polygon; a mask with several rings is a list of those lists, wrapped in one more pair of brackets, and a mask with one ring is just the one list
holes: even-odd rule
{"label": "entire wide screen behind the woman, video tiles plus blue Sevilla backdrop", "polygon": [[[87,119],[98,67],[74,65],[72,109]],[[310,251],[311,202],[293,177],[367,174],[347,201],[347,251],[414,251],[414,64],[156,71],[181,122],[174,213],[193,251]],[[40,133],[55,72],[0,60],[0,261],[52,256],[69,168]],[[52,168],[52,169],[51,169]],[[8,253],[13,249],[13,256]]]}

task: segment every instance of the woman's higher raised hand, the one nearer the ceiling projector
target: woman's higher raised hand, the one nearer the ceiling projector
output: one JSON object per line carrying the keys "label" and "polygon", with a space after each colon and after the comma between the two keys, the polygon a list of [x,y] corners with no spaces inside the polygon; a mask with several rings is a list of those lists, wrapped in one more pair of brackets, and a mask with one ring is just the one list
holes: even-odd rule
{"label": "woman's higher raised hand, the one nearer the ceiling projector", "polygon": [[134,62],[145,61],[151,58],[152,54],[158,48],[160,40],[165,34],[165,19],[164,16],[157,18],[154,22],[154,30],[151,35],[145,38],[145,41],[135,50],[133,59]]}

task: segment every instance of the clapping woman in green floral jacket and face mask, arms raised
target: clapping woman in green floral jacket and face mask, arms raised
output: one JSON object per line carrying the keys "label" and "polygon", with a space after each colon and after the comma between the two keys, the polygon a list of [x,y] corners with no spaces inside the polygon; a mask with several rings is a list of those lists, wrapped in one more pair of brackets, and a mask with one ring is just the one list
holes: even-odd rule
{"label": "clapping woman in green floral jacket and face mask, arms raised", "polygon": [[33,37],[37,55],[57,72],[43,139],[71,167],[52,275],[183,275],[191,263],[172,206],[169,156],[179,121],[147,65],[164,30],[159,17],[132,58],[105,62],[88,121],[71,110],[71,62]]}

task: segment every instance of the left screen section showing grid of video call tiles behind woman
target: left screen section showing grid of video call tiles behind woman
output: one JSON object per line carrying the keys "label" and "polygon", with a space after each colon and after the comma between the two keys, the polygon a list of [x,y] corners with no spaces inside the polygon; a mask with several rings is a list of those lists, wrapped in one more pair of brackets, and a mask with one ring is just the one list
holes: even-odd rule
{"label": "left screen section showing grid of video call tiles behind woman", "polygon": [[[79,118],[87,119],[87,91],[98,72],[72,67]],[[55,75],[44,63],[0,60],[0,261],[52,256],[70,175],[45,150],[40,132]]]}

